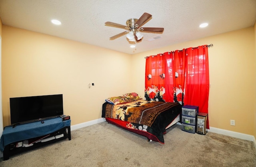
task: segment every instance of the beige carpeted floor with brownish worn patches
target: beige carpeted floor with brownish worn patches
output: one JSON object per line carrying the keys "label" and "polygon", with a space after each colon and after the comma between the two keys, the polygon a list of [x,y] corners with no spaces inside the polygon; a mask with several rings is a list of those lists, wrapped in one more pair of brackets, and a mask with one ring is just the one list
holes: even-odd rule
{"label": "beige carpeted floor with brownish worn patches", "polygon": [[1,167],[256,167],[252,141],[216,133],[198,135],[174,125],[165,144],[107,122],[71,131],[68,139],[0,159]]}

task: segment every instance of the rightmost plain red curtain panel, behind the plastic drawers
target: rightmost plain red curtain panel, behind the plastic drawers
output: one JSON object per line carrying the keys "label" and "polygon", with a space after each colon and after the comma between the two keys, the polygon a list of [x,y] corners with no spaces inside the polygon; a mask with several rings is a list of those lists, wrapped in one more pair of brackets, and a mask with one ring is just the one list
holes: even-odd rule
{"label": "rightmost plain red curtain panel, behind the plastic drawers", "polygon": [[[208,47],[188,48],[186,65],[186,90],[184,105],[199,106],[199,112],[208,113],[209,65]],[[206,128],[209,129],[207,120]]]}

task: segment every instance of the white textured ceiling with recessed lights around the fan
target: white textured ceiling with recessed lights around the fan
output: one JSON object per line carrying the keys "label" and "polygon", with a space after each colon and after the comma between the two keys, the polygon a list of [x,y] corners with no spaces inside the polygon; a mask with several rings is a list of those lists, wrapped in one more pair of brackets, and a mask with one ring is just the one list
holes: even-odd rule
{"label": "white textured ceiling with recessed lights around the fan", "polygon": [[[109,40],[125,30],[105,22],[126,25],[126,20],[144,12],[152,14],[144,27],[163,27],[163,34],[143,33],[136,48],[130,48],[126,36]],[[0,0],[0,17],[7,26],[136,54],[252,27],[256,0]],[[51,19],[62,25],[53,25]],[[209,26],[199,28],[203,22]],[[147,40],[158,35],[162,38]]]}

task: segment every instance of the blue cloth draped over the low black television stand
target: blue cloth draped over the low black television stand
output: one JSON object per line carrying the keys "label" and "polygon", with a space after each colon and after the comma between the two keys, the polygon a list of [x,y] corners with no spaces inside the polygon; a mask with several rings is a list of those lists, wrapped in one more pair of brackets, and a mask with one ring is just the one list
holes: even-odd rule
{"label": "blue cloth draped over the low black television stand", "polygon": [[61,117],[44,119],[43,121],[44,123],[41,123],[41,121],[35,121],[18,124],[14,128],[12,128],[12,126],[4,127],[4,131],[0,139],[0,151],[3,152],[4,147],[10,143],[48,135],[63,127],[70,126],[71,123],[71,119],[62,121]]}

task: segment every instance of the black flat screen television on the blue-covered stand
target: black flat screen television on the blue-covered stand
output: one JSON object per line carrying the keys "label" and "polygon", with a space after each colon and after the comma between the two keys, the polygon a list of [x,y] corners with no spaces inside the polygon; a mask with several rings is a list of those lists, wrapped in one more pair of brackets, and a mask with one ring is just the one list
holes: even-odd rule
{"label": "black flat screen television on the blue-covered stand", "polygon": [[63,115],[62,94],[10,98],[12,125],[59,115]]}

